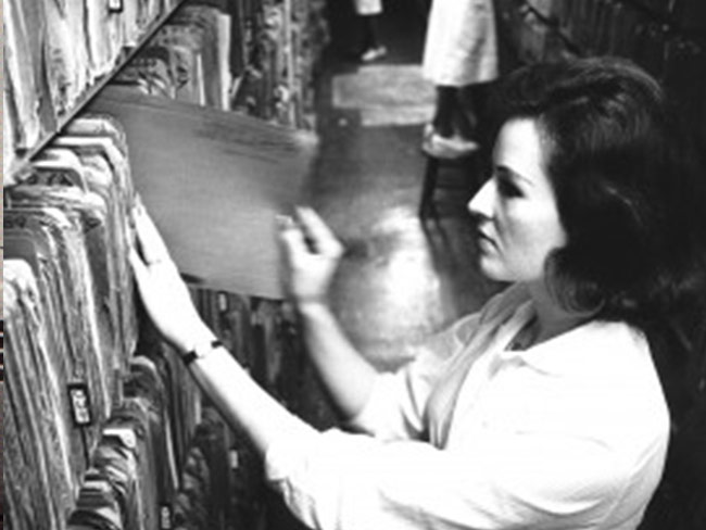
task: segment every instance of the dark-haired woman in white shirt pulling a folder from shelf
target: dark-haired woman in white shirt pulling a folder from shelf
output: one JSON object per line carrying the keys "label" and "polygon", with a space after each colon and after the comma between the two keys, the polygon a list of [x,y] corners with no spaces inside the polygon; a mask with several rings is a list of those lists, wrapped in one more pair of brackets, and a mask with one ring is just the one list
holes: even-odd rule
{"label": "dark-haired woman in white shirt pulling a folder from shelf", "polygon": [[361,433],[317,432],[257,388],[138,212],[149,313],[312,528],[634,529],[660,480],[670,417],[646,335],[705,269],[703,182],[630,63],[525,68],[501,101],[469,210],[481,269],[513,286],[400,371],[375,371],[331,314],[343,249],[322,219],[282,227],[308,349]]}

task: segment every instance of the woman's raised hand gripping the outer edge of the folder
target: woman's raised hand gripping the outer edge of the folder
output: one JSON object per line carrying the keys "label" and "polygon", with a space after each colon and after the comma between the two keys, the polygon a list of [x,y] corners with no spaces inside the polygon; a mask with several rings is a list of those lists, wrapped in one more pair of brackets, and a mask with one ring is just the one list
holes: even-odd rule
{"label": "woman's raised hand gripping the outer edge of the folder", "polygon": [[298,207],[295,213],[295,220],[285,217],[279,223],[289,294],[300,308],[326,304],[343,245],[312,209]]}

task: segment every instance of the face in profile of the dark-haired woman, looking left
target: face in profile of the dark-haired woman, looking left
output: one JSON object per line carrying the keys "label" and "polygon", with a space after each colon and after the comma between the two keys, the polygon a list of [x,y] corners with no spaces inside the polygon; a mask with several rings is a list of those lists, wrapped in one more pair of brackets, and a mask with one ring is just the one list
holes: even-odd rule
{"label": "face in profile of the dark-haired woman, looking left", "polygon": [[480,268],[499,281],[535,281],[550,252],[566,244],[544,171],[537,122],[512,119],[500,131],[493,175],[468,203],[478,219]]}

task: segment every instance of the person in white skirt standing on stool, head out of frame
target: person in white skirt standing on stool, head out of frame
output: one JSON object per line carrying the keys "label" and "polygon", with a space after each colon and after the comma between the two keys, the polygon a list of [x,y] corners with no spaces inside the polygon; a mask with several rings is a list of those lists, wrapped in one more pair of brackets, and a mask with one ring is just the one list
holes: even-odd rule
{"label": "person in white skirt standing on stool, head out of frame", "polygon": [[497,38],[492,0],[433,0],[424,50],[424,75],[437,88],[423,150],[457,159],[479,149],[479,84],[497,77]]}

